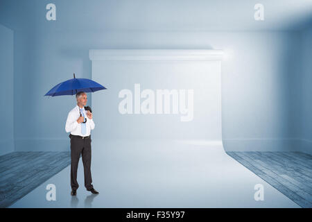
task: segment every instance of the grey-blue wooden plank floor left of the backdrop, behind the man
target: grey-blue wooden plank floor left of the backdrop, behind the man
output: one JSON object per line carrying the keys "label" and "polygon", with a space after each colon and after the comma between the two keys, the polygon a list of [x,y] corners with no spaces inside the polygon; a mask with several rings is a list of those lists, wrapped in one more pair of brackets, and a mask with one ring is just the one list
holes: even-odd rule
{"label": "grey-blue wooden plank floor left of the backdrop, behind the man", "polygon": [[0,156],[0,207],[8,207],[71,163],[70,152],[13,152]]}

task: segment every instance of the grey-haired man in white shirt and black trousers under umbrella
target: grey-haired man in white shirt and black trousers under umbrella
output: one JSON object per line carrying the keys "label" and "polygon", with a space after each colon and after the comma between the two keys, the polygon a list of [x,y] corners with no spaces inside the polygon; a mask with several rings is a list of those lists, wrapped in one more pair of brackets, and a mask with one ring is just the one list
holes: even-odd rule
{"label": "grey-haired man in white shirt and black trousers under umbrella", "polygon": [[[76,94],[77,105],[73,108],[66,121],[65,130],[70,132],[71,138],[71,195],[76,196],[79,185],[77,182],[77,169],[80,153],[83,155],[83,168],[85,173],[85,188],[92,194],[98,194],[92,185],[91,177],[91,130],[94,129],[92,112],[85,111],[87,94],[78,92]],[[81,113],[81,117],[80,117]],[[87,117],[87,118],[86,118]]]}

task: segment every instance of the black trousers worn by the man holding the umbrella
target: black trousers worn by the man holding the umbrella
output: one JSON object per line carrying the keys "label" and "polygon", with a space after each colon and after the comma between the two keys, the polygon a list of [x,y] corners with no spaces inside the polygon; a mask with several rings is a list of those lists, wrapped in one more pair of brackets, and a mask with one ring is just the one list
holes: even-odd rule
{"label": "black trousers worn by the man holding the umbrella", "polygon": [[93,188],[91,177],[91,137],[71,137],[71,189],[78,189],[77,169],[80,153],[83,155],[83,169],[85,173],[85,188]]}

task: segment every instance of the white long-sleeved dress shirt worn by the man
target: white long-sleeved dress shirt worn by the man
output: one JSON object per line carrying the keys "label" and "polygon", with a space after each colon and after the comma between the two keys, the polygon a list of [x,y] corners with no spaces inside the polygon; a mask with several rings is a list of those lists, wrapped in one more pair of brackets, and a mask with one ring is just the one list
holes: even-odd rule
{"label": "white long-sleeved dress shirt worn by the man", "polygon": [[93,118],[89,119],[89,117],[87,117],[87,114],[85,112],[85,107],[83,108],[83,113],[85,114],[85,118],[87,119],[86,124],[86,133],[85,135],[83,135],[81,133],[81,123],[77,122],[77,119],[80,117],[80,112],[79,112],[79,106],[76,105],[75,108],[73,108],[71,111],[69,111],[69,114],[67,116],[67,121],[66,121],[66,125],[65,125],[65,130],[66,133],[71,133],[71,135],[78,135],[81,137],[87,137],[91,134],[91,130],[94,129],[94,121]]}

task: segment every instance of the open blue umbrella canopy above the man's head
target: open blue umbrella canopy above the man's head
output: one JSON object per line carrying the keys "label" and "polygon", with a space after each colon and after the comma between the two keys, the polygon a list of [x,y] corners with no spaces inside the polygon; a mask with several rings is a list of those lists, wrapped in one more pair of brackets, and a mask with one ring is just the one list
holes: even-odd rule
{"label": "open blue umbrella canopy above the man's head", "polygon": [[96,92],[101,89],[107,89],[103,85],[94,82],[87,78],[76,78],[73,74],[73,78],[55,85],[49,92],[44,96],[63,96],[63,95],[73,95],[77,92]]}

